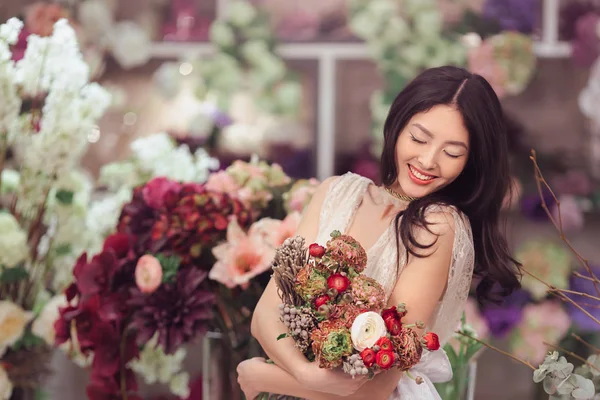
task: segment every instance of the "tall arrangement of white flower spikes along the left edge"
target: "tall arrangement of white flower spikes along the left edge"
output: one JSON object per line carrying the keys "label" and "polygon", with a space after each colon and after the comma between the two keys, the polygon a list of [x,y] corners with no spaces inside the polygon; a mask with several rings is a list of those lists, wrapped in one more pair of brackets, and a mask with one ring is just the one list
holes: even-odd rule
{"label": "tall arrangement of white flower spikes along the left edge", "polygon": [[[44,304],[64,289],[61,276],[71,275],[75,254],[88,245],[92,184],[77,167],[111,101],[89,82],[67,20],[50,36],[29,35],[14,62],[22,28],[15,18],[0,25],[0,357],[53,344],[58,300]],[[5,398],[12,383],[2,372]]]}

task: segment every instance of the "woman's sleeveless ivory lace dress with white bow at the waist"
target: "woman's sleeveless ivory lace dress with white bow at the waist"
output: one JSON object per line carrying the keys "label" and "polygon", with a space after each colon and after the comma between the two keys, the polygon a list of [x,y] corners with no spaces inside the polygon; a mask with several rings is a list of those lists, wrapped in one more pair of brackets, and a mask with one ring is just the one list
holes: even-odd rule
{"label": "woman's sleeveless ivory lace dress with white bow at the waist", "polygon": [[[354,213],[372,183],[370,179],[353,173],[347,173],[331,183],[321,209],[317,234],[319,244],[325,245],[334,230],[347,233]],[[473,238],[468,218],[452,207],[445,207],[444,211],[454,216],[452,263],[446,292],[427,326],[427,330],[438,334],[442,345],[450,339],[459,324],[471,286],[474,264]],[[405,251],[400,254],[400,265],[396,263],[394,224],[390,224],[375,244],[366,250],[368,261],[364,273],[381,283],[389,297],[406,264]],[[413,376],[421,376],[425,382],[417,385],[404,374],[389,400],[440,399],[433,382],[445,382],[452,378],[450,363],[442,350],[425,352],[421,362],[411,372]]]}

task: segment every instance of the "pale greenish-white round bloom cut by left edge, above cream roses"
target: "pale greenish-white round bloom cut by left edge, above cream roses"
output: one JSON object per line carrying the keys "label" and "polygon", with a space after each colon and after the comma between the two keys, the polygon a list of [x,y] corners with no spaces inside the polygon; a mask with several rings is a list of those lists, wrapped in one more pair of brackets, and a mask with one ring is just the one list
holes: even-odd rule
{"label": "pale greenish-white round bloom cut by left edge, above cream roses", "polygon": [[[27,234],[12,214],[0,213],[0,265],[12,268],[25,260]],[[0,341],[0,346],[2,345]]]}

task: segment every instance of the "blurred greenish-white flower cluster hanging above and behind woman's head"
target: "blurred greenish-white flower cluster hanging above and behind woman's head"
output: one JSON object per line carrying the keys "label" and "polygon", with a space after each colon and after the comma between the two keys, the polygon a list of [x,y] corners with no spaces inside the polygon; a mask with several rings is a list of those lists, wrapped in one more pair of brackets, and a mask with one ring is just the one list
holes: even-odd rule
{"label": "blurred greenish-white flower cluster hanging above and behind woman's head", "polygon": [[395,95],[423,69],[464,65],[466,48],[444,36],[435,0],[351,0],[350,29],[365,40],[386,80],[371,99],[373,154],[383,145],[383,124]]}

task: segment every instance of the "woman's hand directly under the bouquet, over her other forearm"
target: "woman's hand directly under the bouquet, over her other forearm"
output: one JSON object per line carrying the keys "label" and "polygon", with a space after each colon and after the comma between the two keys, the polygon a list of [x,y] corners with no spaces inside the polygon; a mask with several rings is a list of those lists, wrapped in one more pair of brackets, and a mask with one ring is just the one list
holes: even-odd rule
{"label": "woman's hand directly under the bouquet, over her other forearm", "polygon": [[352,378],[340,369],[319,368],[317,363],[307,364],[297,379],[307,389],[337,396],[352,395],[368,382],[365,375]]}

